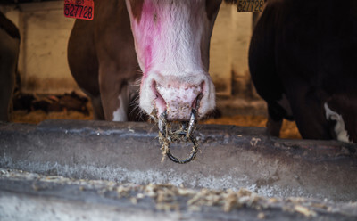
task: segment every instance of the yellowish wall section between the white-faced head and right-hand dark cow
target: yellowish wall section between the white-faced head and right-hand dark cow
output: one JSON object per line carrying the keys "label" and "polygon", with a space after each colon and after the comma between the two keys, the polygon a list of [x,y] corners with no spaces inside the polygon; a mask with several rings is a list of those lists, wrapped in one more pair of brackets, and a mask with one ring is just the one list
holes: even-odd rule
{"label": "yellowish wall section between the white-faced head and right-hand dark cow", "polygon": [[212,33],[210,65],[217,94],[236,95],[241,89],[232,86],[245,86],[250,82],[247,56],[252,16],[252,13],[238,13],[236,5],[220,7]]}

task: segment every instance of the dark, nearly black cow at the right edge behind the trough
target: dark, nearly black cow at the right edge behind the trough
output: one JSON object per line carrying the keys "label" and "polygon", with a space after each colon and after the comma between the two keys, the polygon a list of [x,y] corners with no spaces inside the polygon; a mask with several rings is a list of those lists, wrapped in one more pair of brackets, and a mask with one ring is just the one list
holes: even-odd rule
{"label": "dark, nearly black cow at the right edge behind the trough", "polygon": [[269,0],[249,68],[270,135],[295,119],[303,138],[357,142],[357,1]]}

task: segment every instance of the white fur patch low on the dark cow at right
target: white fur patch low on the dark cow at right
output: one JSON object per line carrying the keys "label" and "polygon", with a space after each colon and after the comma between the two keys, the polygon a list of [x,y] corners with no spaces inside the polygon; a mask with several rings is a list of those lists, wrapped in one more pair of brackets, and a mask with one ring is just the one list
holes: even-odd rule
{"label": "white fur patch low on the dark cow at right", "polygon": [[332,111],[328,108],[328,103],[325,102],[324,108],[326,111],[326,119],[328,120],[336,120],[335,133],[338,141],[352,143],[349,139],[349,135],[345,130],[345,121],[340,114],[335,111]]}

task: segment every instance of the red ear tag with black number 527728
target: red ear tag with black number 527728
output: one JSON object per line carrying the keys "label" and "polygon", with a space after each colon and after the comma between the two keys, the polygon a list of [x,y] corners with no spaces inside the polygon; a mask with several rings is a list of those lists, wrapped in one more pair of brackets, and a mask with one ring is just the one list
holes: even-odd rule
{"label": "red ear tag with black number 527728", "polygon": [[79,20],[93,20],[94,0],[64,0],[64,16]]}

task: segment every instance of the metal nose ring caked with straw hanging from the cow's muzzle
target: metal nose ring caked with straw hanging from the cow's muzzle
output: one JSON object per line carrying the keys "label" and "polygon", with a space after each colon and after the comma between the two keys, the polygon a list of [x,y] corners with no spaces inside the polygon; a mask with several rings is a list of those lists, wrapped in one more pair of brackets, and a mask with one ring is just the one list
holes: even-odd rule
{"label": "metal nose ring caked with straw hanging from the cow's muzzle", "polygon": [[[162,155],[163,156],[166,155],[170,160],[172,160],[175,163],[184,164],[195,159],[195,155],[198,151],[198,143],[193,133],[195,131],[195,125],[197,123],[196,110],[199,108],[201,97],[202,97],[201,94],[197,96],[197,99],[195,100],[195,105],[193,105],[193,108],[191,110],[191,116],[189,121],[179,122],[181,127],[178,130],[173,131],[171,129],[171,124],[173,122],[167,120],[166,111],[162,112],[162,114],[159,117],[159,121],[158,121],[159,141],[160,143],[162,143]],[[175,156],[173,156],[170,152],[170,143],[181,142],[181,141],[183,142],[189,141],[194,144],[194,146],[192,147],[192,151],[190,155],[187,157],[187,159],[178,159]]]}

